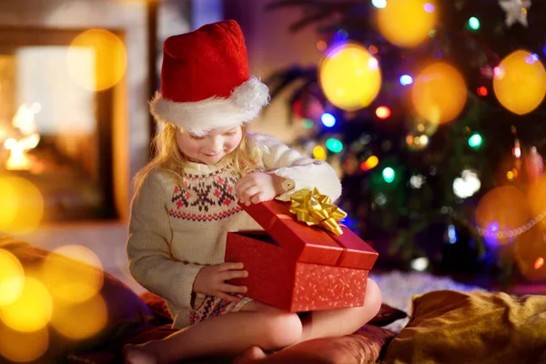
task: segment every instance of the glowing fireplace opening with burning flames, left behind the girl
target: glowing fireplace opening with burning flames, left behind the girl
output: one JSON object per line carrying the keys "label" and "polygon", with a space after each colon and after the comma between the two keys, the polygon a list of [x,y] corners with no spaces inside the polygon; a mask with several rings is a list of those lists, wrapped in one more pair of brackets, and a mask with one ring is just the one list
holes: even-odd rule
{"label": "glowing fireplace opening with burning flames, left behind the girl", "polygon": [[117,43],[76,44],[89,29],[0,27],[0,176],[38,188],[46,223],[119,215],[113,129],[126,58],[112,45],[123,48],[123,33],[95,32]]}

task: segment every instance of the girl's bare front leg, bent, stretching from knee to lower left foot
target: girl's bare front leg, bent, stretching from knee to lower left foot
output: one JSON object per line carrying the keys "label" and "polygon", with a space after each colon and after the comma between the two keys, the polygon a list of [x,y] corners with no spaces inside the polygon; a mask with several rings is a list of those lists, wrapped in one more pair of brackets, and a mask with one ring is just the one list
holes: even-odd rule
{"label": "girl's bare front leg, bent, stretching from knee to lower left foot", "polygon": [[[248,306],[248,305],[247,305]],[[277,308],[246,310],[198,322],[166,339],[126,346],[126,363],[172,363],[204,356],[236,355],[252,346],[282,349],[301,337],[298,315]]]}

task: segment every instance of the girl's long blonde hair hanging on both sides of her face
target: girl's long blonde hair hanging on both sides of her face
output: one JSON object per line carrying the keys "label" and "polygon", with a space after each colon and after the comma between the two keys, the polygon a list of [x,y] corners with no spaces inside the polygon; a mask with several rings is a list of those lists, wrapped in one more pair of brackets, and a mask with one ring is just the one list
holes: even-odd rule
{"label": "girl's long blonde hair hanging on both sides of her face", "polygon": [[[247,126],[243,124],[241,128],[243,135],[238,147],[226,157],[233,158],[234,172],[244,176],[258,167],[261,154],[256,142],[248,136]],[[187,165],[188,159],[178,148],[177,132],[178,126],[165,123],[161,130],[157,132],[157,135],[154,136],[151,144],[156,155],[136,173],[134,180],[136,195],[147,175],[156,168],[162,168],[170,172],[174,182],[184,187],[184,167]]]}

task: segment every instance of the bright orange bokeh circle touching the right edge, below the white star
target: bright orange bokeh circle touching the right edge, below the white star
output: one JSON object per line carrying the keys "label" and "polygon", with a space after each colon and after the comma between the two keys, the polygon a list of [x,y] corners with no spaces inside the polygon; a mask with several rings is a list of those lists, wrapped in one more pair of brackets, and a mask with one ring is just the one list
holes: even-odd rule
{"label": "bright orange bokeh circle touching the right edge, below the white star", "polygon": [[546,94],[546,71],[538,56],[517,50],[495,67],[493,90],[502,106],[517,115],[541,105]]}

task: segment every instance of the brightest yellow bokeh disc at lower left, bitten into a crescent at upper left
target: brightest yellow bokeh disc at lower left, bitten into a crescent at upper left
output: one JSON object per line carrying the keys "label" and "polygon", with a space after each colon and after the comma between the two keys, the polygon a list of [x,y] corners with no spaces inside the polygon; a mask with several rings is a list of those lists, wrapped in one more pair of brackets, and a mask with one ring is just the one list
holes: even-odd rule
{"label": "brightest yellow bokeh disc at lower left, bitten into a crescent at upper left", "polygon": [[21,295],[0,308],[0,319],[11,329],[32,332],[45,328],[51,319],[53,301],[44,284],[26,277]]}

